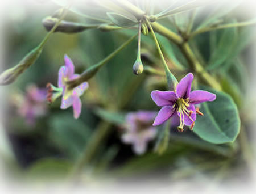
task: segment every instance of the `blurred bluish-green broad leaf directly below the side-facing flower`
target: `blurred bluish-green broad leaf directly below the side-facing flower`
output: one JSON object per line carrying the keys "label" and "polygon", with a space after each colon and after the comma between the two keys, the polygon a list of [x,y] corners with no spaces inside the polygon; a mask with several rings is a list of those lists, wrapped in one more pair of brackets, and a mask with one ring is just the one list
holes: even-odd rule
{"label": "blurred bluish-green broad leaf directly below the side-facing flower", "polygon": [[76,158],[81,153],[90,137],[90,129],[81,120],[75,120],[71,114],[59,113],[51,116],[49,125],[51,140],[71,158]]}

